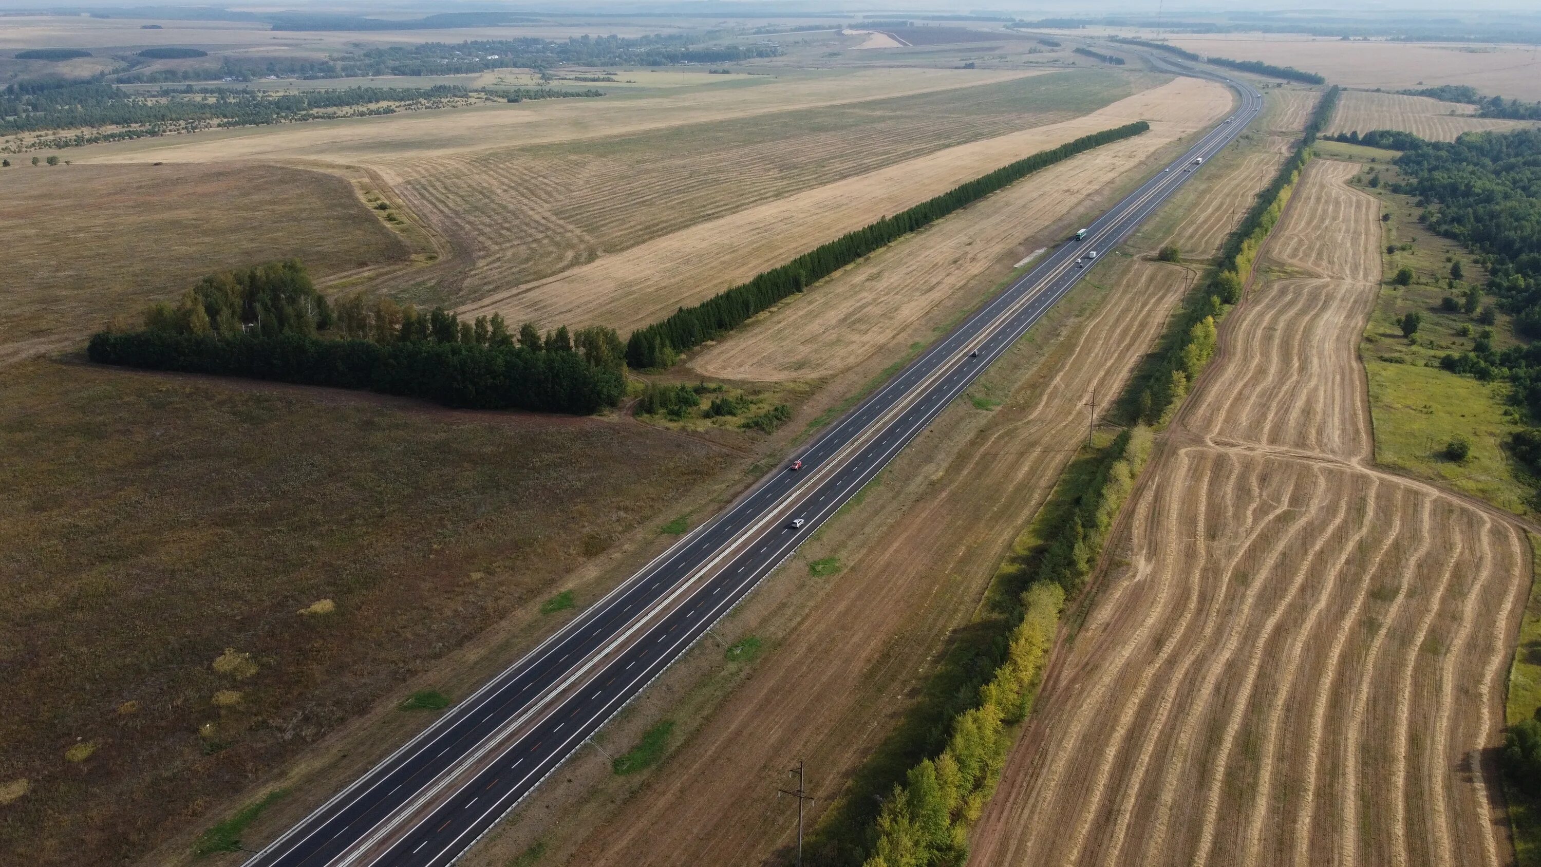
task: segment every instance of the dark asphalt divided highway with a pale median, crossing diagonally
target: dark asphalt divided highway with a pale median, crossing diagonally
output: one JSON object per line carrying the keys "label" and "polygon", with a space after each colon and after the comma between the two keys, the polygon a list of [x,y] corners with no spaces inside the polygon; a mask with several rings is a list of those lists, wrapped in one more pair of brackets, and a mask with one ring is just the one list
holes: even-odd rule
{"label": "dark asphalt divided highway with a pale median, crossing diagonally", "polygon": [[[1154,60],[1154,59],[1153,59]],[[1163,66],[1168,63],[1162,63]],[[1200,74],[1188,68],[1183,74]],[[1228,145],[1262,94],[1062,245],[807,448],[253,856],[248,867],[450,864],[791,556],[1108,251]]]}

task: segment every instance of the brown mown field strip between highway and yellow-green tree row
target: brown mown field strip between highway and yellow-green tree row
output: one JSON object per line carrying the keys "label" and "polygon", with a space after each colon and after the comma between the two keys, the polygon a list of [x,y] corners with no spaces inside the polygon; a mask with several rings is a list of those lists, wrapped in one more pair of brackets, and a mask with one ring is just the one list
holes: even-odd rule
{"label": "brown mown field strip between highway and yellow-green tree row", "polygon": [[[1110,279],[1116,291],[1065,302],[1097,305],[1080,322],[1014,351],[1034,353],[1032,367],[1019,368],[986,422],[954,410],[952,423],[980,425],[977,433],[955,437],[943,456],[922,448],[900,459],[926,464],[897,477],[932,482],[892,524],[852,527],[857,539],[832,548],[849,568],[818,588],[787,651],[767,658],[567,862],[758,864],[791,842],[786,804],[772,796],[789,758],[817,768],[817,821],[914,704],[946,636],[966,628],[1000,557],[1085,437],[1088,391],[1122,385],[1185,285],[1180,268],[1143,260],[1117,263]],[[846,521],[866,528],[871,513]]]}

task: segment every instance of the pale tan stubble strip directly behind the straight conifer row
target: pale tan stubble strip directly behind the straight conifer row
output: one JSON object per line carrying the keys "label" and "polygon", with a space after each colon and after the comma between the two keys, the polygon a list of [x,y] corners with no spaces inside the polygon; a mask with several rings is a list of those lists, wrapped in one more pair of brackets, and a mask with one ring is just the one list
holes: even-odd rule
{"label": "pale tan stubble strip directly behind the straight conifer row", "polygon": [[1230,92],[1219,85],[1177,79],[1074,120],[960,145],[697,223],[461,311],[501,313],[512,322],[636,328],[1014,159],[1133,120],[1150,120],[1147,136],[1170,142],[1211,123],[1230,105]]}

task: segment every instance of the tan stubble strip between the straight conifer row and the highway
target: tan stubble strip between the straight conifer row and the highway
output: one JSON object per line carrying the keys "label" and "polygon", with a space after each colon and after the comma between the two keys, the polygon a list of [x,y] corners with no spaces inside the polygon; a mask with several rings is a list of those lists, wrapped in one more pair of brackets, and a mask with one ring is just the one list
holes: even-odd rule
{"label": "tan stubble strip between the straight conifer row and the highway", "polygon": [[690,367],[740,380],[824,377],[848,370],[943,299],[980,288],[1003,248],[1116,186],[1167,142],[1140,136],[1049,166],[767,313]]}

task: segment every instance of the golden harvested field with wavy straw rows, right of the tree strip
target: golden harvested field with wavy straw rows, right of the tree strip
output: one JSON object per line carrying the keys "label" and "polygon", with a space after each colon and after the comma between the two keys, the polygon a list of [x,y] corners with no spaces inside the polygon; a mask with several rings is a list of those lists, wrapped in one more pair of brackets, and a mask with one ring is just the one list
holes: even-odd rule
{"label": "golden harvested field with wavy straw rows, right of the tree strip", "polygon": [[1168,433],[972,864],[1507,864],[1530,579],[1507,516],[1371,464],[1378,206],[1308,166]]}

